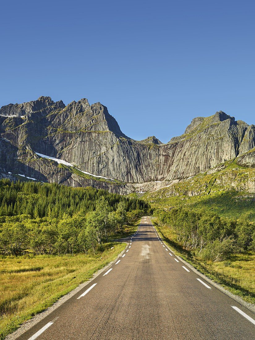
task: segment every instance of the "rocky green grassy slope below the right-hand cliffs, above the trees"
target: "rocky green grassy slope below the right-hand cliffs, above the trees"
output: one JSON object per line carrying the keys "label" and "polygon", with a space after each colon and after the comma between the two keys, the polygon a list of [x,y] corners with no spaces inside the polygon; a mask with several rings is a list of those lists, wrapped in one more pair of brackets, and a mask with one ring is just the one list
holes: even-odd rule
{"label": "rocky green grassy slope below the right-hand cliffs, above the trees", "polygon": [[247,190],[247,183],[254,181],[254,168],[244,168],[230,160],[215,171],[208,170],[170,187],[147,192],[142,198],[155,209],[183,207],[234,219],[246,214],[255,221],[254,194]]}

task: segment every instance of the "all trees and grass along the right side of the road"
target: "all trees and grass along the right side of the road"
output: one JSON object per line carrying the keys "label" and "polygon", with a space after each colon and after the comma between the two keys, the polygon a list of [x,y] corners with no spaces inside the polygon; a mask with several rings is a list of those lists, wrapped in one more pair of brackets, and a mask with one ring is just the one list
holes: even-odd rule
{"label": "all trees and grass along the right side of the road", "polygon": [[155,210],[152,222],[175,253],[249,303],[255,303],[255,225],[189,209]]}

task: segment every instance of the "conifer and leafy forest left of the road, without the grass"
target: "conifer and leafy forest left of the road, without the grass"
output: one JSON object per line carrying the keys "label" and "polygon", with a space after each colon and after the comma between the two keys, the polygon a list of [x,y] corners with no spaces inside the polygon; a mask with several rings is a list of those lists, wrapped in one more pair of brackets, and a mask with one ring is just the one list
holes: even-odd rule
{"label": "conifer and leafy forest left of the road, without the grass", "polygon": [[92,187],[0,180],[0,253],[95,253],[147,213],[143,200]]}

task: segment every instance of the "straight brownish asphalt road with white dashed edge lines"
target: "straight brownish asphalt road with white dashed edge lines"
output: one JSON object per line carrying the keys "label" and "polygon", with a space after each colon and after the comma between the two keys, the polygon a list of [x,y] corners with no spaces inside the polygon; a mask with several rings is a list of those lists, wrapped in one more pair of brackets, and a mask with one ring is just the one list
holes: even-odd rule
{"label": "straight brownish asphalt road with white dashed edge lines", "polygon": [[185,267],[148,217],[128,240],[111,267],[18,339],[255,339],[253,312]]}

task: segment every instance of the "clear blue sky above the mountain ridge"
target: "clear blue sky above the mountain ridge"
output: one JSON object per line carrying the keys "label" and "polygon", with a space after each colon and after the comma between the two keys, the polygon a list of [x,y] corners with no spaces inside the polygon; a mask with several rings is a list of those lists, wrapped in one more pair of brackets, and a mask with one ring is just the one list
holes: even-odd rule
{"label": "clear blue sky above the mountain ridge", "polygon": [[163,142],[224,111],[255,124],[254,1],[4,1],[0,106],[100,101]]}

